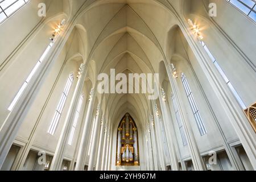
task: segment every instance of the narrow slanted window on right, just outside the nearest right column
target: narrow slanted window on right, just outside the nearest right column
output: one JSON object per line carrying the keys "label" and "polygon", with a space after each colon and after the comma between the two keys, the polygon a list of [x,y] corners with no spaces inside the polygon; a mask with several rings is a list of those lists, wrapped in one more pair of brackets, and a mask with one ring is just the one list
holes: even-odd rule
{"label": "narrow slanted window on right, just outside the nearest right column", "polygon": [[236,98],[238,104],[240,104],[242,109],[246,109],[247,107],[245,106],[245,103],[242,101],[242,98],[238,95],[236,89],[234,89],[234,87],[231,84],[231,82],[229,81],[228,77],[226,77],[224,71],[222,71],[220,65],[218,64],[217,60],[213,57],[212,53],[210,53],[208,47],[205,45],[205,43],[203,41],[201,41],[201,44],[202,44],[203,48],[205,49],[205,51],[207,52],[210,59],[212,60],[214,66],[217,68],[218,72],[220,73],[220,75],[222,76],[222,78],[224,79],[226,84],[228,85],[230,91],[232,92],[233,96]]}

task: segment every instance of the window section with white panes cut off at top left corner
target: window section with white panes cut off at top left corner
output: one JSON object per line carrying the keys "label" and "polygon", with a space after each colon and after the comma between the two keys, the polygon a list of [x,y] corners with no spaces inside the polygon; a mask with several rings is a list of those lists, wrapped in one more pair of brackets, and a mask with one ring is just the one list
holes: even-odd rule
{"label": "window section with white panes cut off at top left corner", "polygon": [[0,1],[0,23],[6,18],[10,17],[12,14],[14,14],[27,2],[28,0],[1,0]]}

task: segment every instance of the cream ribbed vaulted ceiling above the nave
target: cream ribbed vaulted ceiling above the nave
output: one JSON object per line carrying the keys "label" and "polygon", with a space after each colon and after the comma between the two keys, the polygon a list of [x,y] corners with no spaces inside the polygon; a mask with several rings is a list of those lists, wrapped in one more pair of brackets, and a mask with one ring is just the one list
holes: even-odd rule
{"label": "cream ribbed vaulted ceiling above the nave", "polygon": [[[77,51],[92,65],[90,80],[97,81],[99,73],[109,75],[110,69],[115,69],[115,74],[160,73],[163,79],[167,77],[160,63],[182,54],[177,25],[180,14],[191,6],[190,2],[185,5],[183,0],[69,1],[67,14],[69,9],[80,8],[74,34]],[[113,122],[127,112],[135,121],[143,121],[151,107],[146,94],[106,94],[104,102]]]}

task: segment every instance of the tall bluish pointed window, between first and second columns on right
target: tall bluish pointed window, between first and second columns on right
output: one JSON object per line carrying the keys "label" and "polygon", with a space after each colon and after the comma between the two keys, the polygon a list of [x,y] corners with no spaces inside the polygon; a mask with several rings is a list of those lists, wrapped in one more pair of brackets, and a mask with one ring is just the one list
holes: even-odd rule
{"label": "tall bluish pointed window, between first and second columns on right", "polygon": [[181,81],[182,81],[182,84],[184,86],[185,92],[187,94],[189,105],[191,106],[191,110],[192,110],[192,112],[194,114],[194,117],[196,119],[196,124],[197,124],[197,127],[199,129],[199,132],[200,132],[201,136],[203,136],[203,135],[207,134],[207,130],[205,129],[203,119],[201,118],[201,114],[200,114],[199,109],[196,105],[196,101],[193,97],[192,91],[191,91],[191,89],[188,85],[188,81],[187,81],[187,78],[185,77],[184,73],[181,73]]}

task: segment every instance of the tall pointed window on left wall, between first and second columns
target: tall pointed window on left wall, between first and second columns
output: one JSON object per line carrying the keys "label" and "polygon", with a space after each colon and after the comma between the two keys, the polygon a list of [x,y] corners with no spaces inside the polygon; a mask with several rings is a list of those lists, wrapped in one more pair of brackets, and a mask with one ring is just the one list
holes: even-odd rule
{"label": "tall pointed window on left wall, between first and second columns", "polygon": [[61,94],[60,102],[57,106],[57,109],[55,110],[55,114],[52,118],[51,125],[49,126],[49,129],[48,129],[48,133],[51,134],[51,135],[53,135],[56,131],[56,127],[57,127],[57,125],[60,121],[60,116],[61,116],[61,113],[63,111],[65,102],[68,98],[68,93],[69,93],[69,90],[71,89],[71,85],[72,85],[73,80],[74,80],[74,76],[73,76],[73,73],[71,73],[68,77],[65,88],[64,88],[64,90]]}

